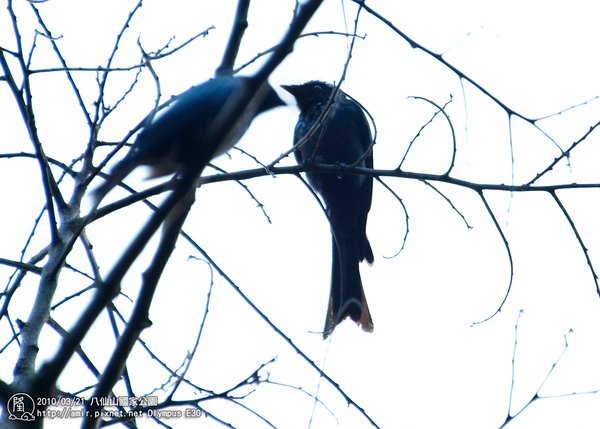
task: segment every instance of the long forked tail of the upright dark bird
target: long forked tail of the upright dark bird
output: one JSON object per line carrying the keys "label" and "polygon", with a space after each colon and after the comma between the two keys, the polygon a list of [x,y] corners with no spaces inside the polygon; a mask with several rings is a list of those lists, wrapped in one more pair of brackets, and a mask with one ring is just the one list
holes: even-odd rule
{"label": "long forked tail of the upright dark bird", "polygon": [[358,246],[351,240],[333,238],[331,291],[323,339],[346,317],[354,320],[364,331],[373,331],[373,320],[360,279]]}

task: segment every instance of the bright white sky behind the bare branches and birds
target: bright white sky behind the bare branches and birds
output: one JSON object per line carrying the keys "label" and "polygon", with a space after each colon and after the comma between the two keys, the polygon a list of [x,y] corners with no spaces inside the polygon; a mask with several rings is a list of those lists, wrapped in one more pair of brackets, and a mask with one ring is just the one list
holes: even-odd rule
{"label": "bright white sky behind the bare branches and birds", "polygon": [[[0,46],[13,48],[10,27],[0,4]],[[15,1],[23,13],[20,22],[29,40],[31,29],[27,4]],[[105,62],[115,34],[132,2],[50,0],[38,7],[72,66],[95,67]],[[350,31],[355,5],[325,2],[307,31]],[[398,28],[484,86],[510,108],[526,116],[540,117],[600,95],[597,17],[600,6],[593,1],[502,3],[476,1],[385,2],[368,4]],[[250,26],[238,64],[276,44],[289,23],[293,2],[253,1]],[[117,65],[139,60],[139,37],[147,51],[162,47],[172,36],[172,46],[206,29],[216,27],[179,53],[153,65],[161,78],[163,100],[209,77],[218,66],[229,35],[235,2],[204,3],[177,0],[146,0],[126,33]],[[346,18],[344,19],[344,13]],[[387,27],[363,12],[343,89],[357,98],[375,117],[378,139],[377,168],[393,168],[419,128],[433,110],[409,96],[427,97],[443,105],[453,97],[447,113],[457,133],[457,158],[453,176],[486,183],[520,183],[534,177],[559,153],[530,124],[513,120],[514,170],[511,166],[506,114],[471,85],[461,87],[455,75],[423,52],[411,49]],[[27,42],[30,43],[30,40]],[[26,45],[27,45],[26,43]],[[57,63],[48,44],[40,41],[35,67]],[[273,85],[311,79],[338,81],[347,56],[348,41],[340,36],[321,36],[299,41],[292,55],[273,74]],[[248,69],[250,73],[254,68]],[[107,99],[116,100],[133,74],[109,79]],[[89,103],[97,87],[95,74],[76,74]],[[107,120],[100,138],[118,140],[152,108],[155,87],[143,72],[140,85]],[[77,156],[87,142],[85,123],[61,74],[33,78],[38,101],[38,127],[50,156],[66,162]],[[282,96],[284,96],[282,94]],[[18,113],[6,85],[0,82],[0,130],[3,152],[31,151],[22,134]],[[288,101],[291,102],[289,97]],[[573,141],[600,117],[600,103],[570,110],[538,123],[562,147]],[[290,106],[259,117],[240,142],[240,147],[268,163],[286,151],[292,141],[297,110]],[[404,165],[414,172],[442,173],[450,159],[450,134],[440,118],[417,140]],[[593,135],[564,161],[543,183],[598,183],[596,167],[598,136]],[[101,158],[98,158],[99,160]],[[0,191],[9,210],[0,215],[0,256],[18,259],[42,207],[38,170],[30,160],[0,160]],[[290,165],[286,159],[283,164]],[[252,161],[233,151],[217,164],[228,170],[255,168]],[[207,174],[213,174],[207,171]],[[137,171],[128,183],[138,188]],[[32,179],[33,178],[33,179]],[[511,385],[511,359],[515,323],[520,310],[519,342],[515,363],[515,385],[511,413],[520,410],[541,385],[564,346],[569,348],[540,395],[560,395],[600,389],[600,300],[589,268],[561,214],[547,194],[486,193],[498,222],[510,243],[514,280],[501,313],[490,321],[472,326],[498,307],[508,285],[509,265],[502,241],[478,196],[467,189],[440,184],[466,217],[467,229],[451,207],[423,183],[407,179],[385,180],[402,198],[410,216],[408,241],[395,258],[405,233],[400,205],[375,183],[368,235],[375,264],[362,269],[375,332],[364,334],[351,322],[339,326],[331,341],[316,332],[324,323],[330,276],[330,235],[325,217],[310,193],[294,177],[265,177],[245,182],[265,205],[272,224],[256,203],[235,183],[214,184],[197,192],[197,202],[185,230],[240,286],[253,302],[279,326],[311,359],[340,384],[382,428],[496,428],[504,420]],[[68,184],[65,185],[68,189]],[[114,192],[109,199],[125,196]],[[573,216],[589,255],[600,270],[597,219],[598,190],[559,193]],[[130,207],[92,225],[90,239],[106,273],[149,215],[141,205]],[[47,240],[47,223],[28,253]],[[108,239],[107,239],[108,238]],[[135,297],[147,256],[132,269],[123,291]],[[193,346],[205,307],[210,272],[207,265],[188,260],[193,250],[180,240],[152,307],[152,328],[143,339],[173,367],[183,362]],[[71,264],[87,267],[85,259],[73,255]],[[8,279],[11,270],[2,269]],[[81,279],[63,272],[64,288],[56,299],[81,287]],[[13,317],[25,319],[35,291],[35,278],[15,298]],[[75,300],[54,316],[69,326],[85,305]],[[118,298],[128,313],[131,304]],[[16,311],[16,310],[15,310]],[[109,357],[105,344],[105,315],[84,342],[99,367]],[[0,322],[0,337],[9,338]],[[50,356],[56,338],[48,332],[42,356]],[[4,341],[4,340],[3,340]],[[4,342],[2,343],[4,344]],[[100,347],[98,347],[100,346]],[[10,378],[16,348],[0,358],[0,376]],[[215,278],[205,333],[188,377],[218,391],[250,375],[261,363],[277,357],[268,366],[270,379],[302,386],[317,393],[318,375],[310,369],[270,328],[245,305],[220,277]],[[135,360],[133,360],[135,359]],[[141,350],[132,355],[130,375],[137,391],[150,392],[166,381]],[[71,378],[61,379],[63,388],[76,389],[93,379],[78,365]],[[265,371],[266,373],[266,371]],[[312,428],[370,427],[352,407],[347,407],[327,382],[321,381],[319,398],[331,409],[317,405]],[[512,428],[585,428],[600,421],[600,396],[577,395],[544,399],[531,405],[513,422]],[[306,428],[313,401],[289,388],[258,386],[247,405],[256,407],[275,426]],[[236,427],[261,426],[256,418],[231,404],[206,404]],[[148,420],[149,427],[154,427]],[[75,422],[55,422],[60,427]],[[194,421],[173,422],[175,427]],[[337,424],[337,426],[336,426]],[[54,427],[49,424],[48,427]],[[59,427],[59,426],[56,426]],[[202,427],[213,427],[203,421]],[[218,427],[218,425],[216,426]]]}

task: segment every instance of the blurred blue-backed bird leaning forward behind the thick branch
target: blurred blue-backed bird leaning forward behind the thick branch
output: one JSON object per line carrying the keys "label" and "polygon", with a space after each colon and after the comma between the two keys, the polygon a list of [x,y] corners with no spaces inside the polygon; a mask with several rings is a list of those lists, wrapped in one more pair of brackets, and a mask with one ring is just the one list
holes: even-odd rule
{"label": "blurred blue-backed bird leaning forward behind the thick branch", "polygon": [[[194,86],[175,98],[139,133],[129,153],[111,171],[111,177],[96,189],[96,204],[129,173],[141,165],[150,177],[200,175],[206,165],[231,149],[260,113],[285,103],[265,83],[246,109],[228,121],[231,108],[255,85],[251,77],[216,77]],[[219,130],[230,122],[226,133]],[[217,135],[220,136],[215,138]]]}

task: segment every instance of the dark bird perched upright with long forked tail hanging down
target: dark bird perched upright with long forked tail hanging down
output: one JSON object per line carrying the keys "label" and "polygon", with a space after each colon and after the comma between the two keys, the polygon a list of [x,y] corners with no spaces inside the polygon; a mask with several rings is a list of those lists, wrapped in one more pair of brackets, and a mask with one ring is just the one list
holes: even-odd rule
{"label": "dark bird perched upright with long forked tail hanging down", "polygon": [[[329,111],[323,115],[333,86],[311,81],[282,87],[295,97],[300,109],[294,133],[294,145],[298,145],[295,156],[299,164],[357,163],[358,167],[373,168],[371,129],[355,101],[340,90]],[[364,175],[317,172],[308,172],[307,176],[311,186],[323,198],[333,238],[331,292],[323,338],[327,338],[346,317],[371,332],[373,321],[360,278],[359,262],[373,263],[373,251],[366,234],[373,179]]]}

